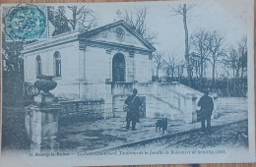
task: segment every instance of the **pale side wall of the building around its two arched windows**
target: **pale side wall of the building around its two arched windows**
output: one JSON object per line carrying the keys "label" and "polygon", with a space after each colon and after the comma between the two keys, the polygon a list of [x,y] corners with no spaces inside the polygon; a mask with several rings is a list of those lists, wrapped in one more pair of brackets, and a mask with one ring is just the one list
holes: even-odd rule
{"label": "pale side wall of the building around its two arched windows", "polygon": [[[78,41],[67,44],[57,45],[50,48],[33,51],[25,54],[25,82],[33,83],[36,81],[36,56],[41,58],[42,75],[54,76],[54,53],[59,51],[61,56],[61,77],[56,82],[77,81],[79,80],[79,48]],[[70,54],[72,53],[72,54]]]}

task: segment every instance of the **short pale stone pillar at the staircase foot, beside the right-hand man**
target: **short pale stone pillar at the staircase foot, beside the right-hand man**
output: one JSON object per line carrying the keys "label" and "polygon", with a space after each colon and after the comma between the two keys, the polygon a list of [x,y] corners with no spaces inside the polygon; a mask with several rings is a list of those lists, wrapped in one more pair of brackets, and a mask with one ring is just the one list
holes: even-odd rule
{"label": "short pale stone pillar at the staircase foot, beside the right-hand man", "polygon": [[196,113],[196,95],[193,93],[187,93],[185,98],[185,111],[183,120],[186,123],[193,123],[197,121]]}

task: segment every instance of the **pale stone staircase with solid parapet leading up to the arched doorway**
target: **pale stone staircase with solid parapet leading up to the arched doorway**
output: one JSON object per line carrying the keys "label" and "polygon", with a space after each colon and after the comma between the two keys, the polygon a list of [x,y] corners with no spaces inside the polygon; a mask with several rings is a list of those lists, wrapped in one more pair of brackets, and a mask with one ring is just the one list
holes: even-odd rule
{"label": "pale stone staircase with solid parapet leading up to the arched doorway", "polygon": [[[128,96],[126,85],[115,86],[112,91],[118,92],[112,93],[115,99],[113,100],[115,116],[123,111],[124,98]],[[146,97],[146,117],[183,120],[187,123],[197,120],[196,100],[203,93],[180,83],[134,83],[133,86],[138,89],[138,96]],[[131,89],[131,86],[129,88]]]}

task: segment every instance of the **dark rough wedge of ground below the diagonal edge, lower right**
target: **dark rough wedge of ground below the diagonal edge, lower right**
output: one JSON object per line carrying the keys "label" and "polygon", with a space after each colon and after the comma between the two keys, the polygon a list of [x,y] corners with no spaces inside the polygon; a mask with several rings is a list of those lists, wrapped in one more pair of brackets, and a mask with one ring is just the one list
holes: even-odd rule
{"label": "dark rough wedge of ground below the diagonal edge, lower right", "polygon": [[169,148],[207,148],[207,147],[248,147],[247,120],[213,128],[212,134],[202,135],[200,131],[173,135],[149,143],[140,143],[122,150],[152,149],[160,151]]}

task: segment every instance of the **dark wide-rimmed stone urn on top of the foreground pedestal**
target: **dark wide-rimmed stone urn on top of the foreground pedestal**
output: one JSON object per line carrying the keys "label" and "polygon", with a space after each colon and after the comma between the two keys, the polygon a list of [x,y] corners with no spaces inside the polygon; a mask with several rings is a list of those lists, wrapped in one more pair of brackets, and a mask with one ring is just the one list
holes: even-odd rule
{"label": "dark wide-rimmed stone urn on top of the foreground pedestal", "polygon": [[40,75],[36,78],[39,80],[34,83],[34,86],[39,90],[42,90],[44,93],[49,93],[49,90],[52,90],[57,86],[57,83],[52,81],[54,76]]}

